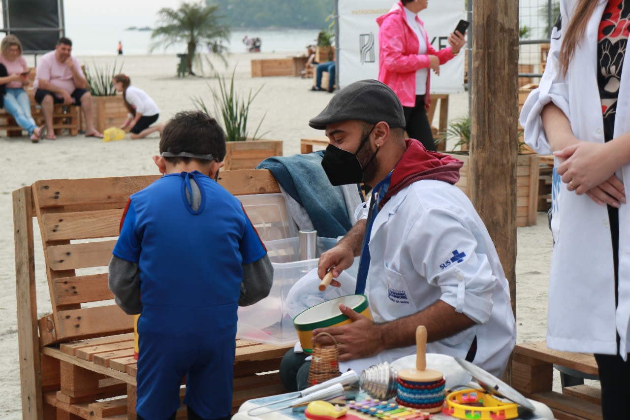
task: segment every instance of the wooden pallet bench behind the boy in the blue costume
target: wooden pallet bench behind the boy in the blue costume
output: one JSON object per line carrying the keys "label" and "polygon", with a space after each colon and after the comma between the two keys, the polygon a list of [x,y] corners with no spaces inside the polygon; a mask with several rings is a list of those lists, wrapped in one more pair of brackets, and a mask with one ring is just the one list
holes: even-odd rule
{"label": "wooden pallet bench behind the boy in the blue costume", "polygon": [[[113,304],[106,266],[129,195],[157,178],[44,180],[13,192],[23,419],[136,418],[133,317]],[[234,195],[280,192],[267,170],[221,172],[219,182]],[[35,275],[33,218],[46,279]],[[36,285],[46,283],[52,313],[38,319]],[[234,412],[285,392],[277,370],[290,347],[237,341]]]}

